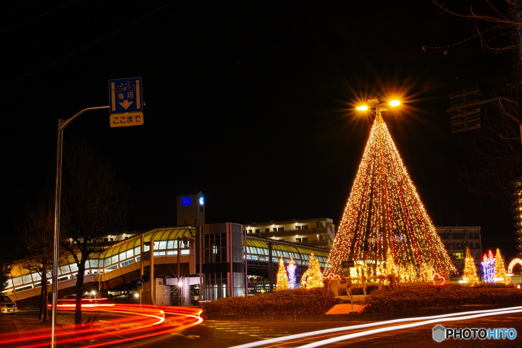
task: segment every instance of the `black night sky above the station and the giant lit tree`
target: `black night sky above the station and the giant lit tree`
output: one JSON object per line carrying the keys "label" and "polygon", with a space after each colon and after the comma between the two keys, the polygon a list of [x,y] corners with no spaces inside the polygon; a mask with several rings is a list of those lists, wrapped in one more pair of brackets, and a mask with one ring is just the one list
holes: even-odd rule
{"label": "black night sky above the station and the giant lit tree", "polygon": [[[176,223],[202,190],[206,223],[329,217],[338,225],[373,117],[356,100],[397,97],[390,133],[435,225],[481,226],[515,256],[511,213],[465,191],[449,92],[486,86],[511,53],[466,38],[473,23],[429,1],[13,1],[2,40],[2,228],[53,181],[57,119],[109,103],[108,80],[143,78],[144,125],[81,115],[64,148],[90,143],[130,185],[131,229]],[[351,110],[350,110],[351,109]],[[455,220],[455,215],[457,215]]]}

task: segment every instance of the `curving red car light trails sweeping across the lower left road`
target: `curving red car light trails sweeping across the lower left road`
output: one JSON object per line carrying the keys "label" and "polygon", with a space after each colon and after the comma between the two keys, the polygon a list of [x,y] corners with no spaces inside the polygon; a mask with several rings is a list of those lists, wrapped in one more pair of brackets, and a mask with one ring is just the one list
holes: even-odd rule
{"label": "curving red car light trails sweeping across the lower left road", "polygon": [[[183,330],[195,326],[203,319],[199,317],[199,308],[169,307],[169,306],[140,306],[122,304],[82,304],[85,314],[119,314],[110,320],[96,320],[89,326],[72,326],[69,330],[60,330],[56,333],[56,344],[81,342],[86,345],[82,348],[94,348],[107,344],[137,341],[169,332]],[[74,311],[73,304],[60,304],[58,309]],[[51,328],[45,334],[33,335],[24,347],[48,346],[51,341]],[[122,338],[123,337],[123,338]],[[27,338],[26,338],[27,340]],[[4,345],[19,343],[20,338],[10,338],[9,333],[0,334],[0,342]],[[95,341],[95,342],[93,342]]]}

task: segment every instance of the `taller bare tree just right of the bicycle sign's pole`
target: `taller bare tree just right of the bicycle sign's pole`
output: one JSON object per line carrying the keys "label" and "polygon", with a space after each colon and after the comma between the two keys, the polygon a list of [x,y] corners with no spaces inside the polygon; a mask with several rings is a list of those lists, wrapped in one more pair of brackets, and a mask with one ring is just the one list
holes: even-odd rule
{"label": "taller bare tree just right of the bicycle sign's pole", "polygon": [[61,204],[62,246],[78,265],[75,322],[81,324],[85,263],[110,245],[108,235],[126,229],[129,188],[120,182],[110,161],[85,143],[64,149]]}

